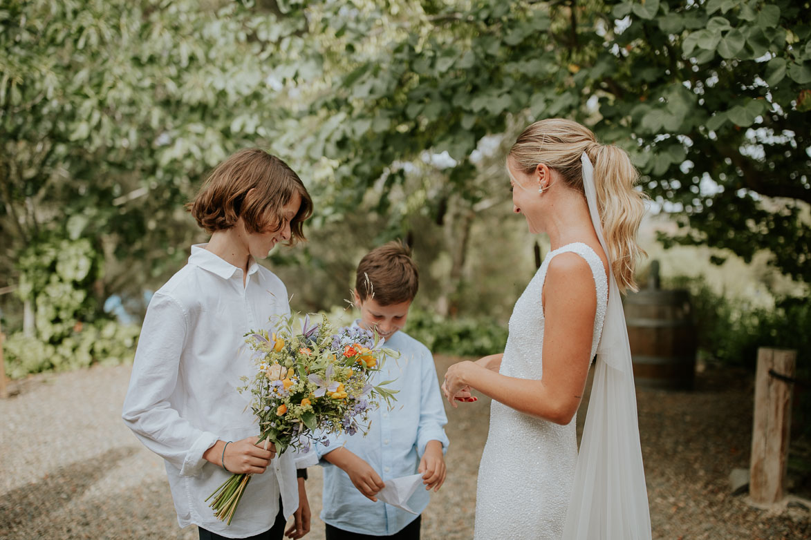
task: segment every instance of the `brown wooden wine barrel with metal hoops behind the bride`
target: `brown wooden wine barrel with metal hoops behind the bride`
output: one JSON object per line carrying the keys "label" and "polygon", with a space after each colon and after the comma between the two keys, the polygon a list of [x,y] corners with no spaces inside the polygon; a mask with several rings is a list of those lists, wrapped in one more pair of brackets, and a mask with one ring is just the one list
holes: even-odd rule
{"label": "brown wooden wine barrel with metal hoops behind the bride", "polygon": [[626,296],[624,309],[636,384],[692,389],[697,340],[689,293],[645,289]]}

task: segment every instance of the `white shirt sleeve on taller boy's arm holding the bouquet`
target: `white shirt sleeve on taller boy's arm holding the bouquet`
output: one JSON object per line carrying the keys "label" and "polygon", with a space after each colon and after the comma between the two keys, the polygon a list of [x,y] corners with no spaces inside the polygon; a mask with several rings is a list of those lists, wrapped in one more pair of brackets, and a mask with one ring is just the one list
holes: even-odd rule
{"label": "white shirt sleeve on taller boy's arm holding the bouquet", "polygon": [[141,335],[122,419],[144,446],[182,476],[193,476],[217,435],[183,419],[170,403],[187,335],[186,313],[178,301],[160,292],[152,296]]}

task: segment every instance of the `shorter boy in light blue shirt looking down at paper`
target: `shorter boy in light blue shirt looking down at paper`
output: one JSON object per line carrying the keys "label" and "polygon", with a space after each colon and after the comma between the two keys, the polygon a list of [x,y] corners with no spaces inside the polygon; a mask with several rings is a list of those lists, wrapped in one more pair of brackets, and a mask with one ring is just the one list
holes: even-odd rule
{"label": "shorter boy in light blue shirt looking down at paper", "polygon": [[375,495],[388,480],[423,474],[426,490],[409,500],[410,508],[423,512],[428,491],[444,483],[448,437],[443,427],[448,419],[434,359],[422,343],[401,331],[417,288],[417,266],[399,242],[371,250],[358,265],[354,300],[361,318],[356,324],[376,329],[385,347],[400,352],[399,359],[388,359],[377,374],[380,381],[394,379],[388,387],[399,393],[392,410],[384,405],[370,411],[366,436],[334,437],[327,447],[315,445],[325,464],[321,519],[327,540],[418,539],[420,516],[377,502]]}

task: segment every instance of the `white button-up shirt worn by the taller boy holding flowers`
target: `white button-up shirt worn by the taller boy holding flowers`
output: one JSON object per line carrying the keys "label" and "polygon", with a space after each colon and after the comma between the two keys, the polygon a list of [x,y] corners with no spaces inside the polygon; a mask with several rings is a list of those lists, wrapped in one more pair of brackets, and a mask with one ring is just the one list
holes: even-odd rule
{"label": "white button-up shirt worn by the taller boy holding flowers", "polygon": [[[204,249],[191,257],[149,302],[135,351],[122,418],[144,445],[165,460],[181,527],[195,524],[228,538],[272,527],[281,495],[285,517],[298,508],[296,466],[315,455],[292,450],[254,474],[231,525],[204,502],[230,476],[203,459],[220,440],[258,436],[242,376],[255,370],[244,334],[267,329],[268,317],[290,313],[281,279],[251,261],[243,271]],[[315,453],[311,453],[315,454]],[[308,459],[309,458],[309,459]]]}

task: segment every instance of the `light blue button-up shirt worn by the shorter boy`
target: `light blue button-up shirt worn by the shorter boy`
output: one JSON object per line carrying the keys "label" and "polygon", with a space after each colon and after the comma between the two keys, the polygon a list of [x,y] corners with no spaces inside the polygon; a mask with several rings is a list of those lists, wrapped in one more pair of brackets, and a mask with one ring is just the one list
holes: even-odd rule
{"label": "light blue button-up shirt worn by the shorter boy", "polygon": [[[333,436],[328,447],[315,444],[318,457],[330,451],[346,449],[363,458],[380,474],[384,482],[392,478],[416,474],[419,461],[430,440],[439,440],[443,452],[448,448],[444,425],[444,402],[436,379],[436,367],[431,351],[402,331],[385,343],[385,347],[400,352],[398,359],[386,359],[376,381],[390,381],[389,388],[399,390],[397,402],[388,410],[385,402],[369,411],[366,436]],[[417,515],[382,501],[368,500],[350,480],[348,474],[328,461],[324,466],[324,509],[321,520],[351,533],[389,536],[397,534],[417,518]],[[429,491],[418,487],[408,505],[423,512],[430,500]]]}

